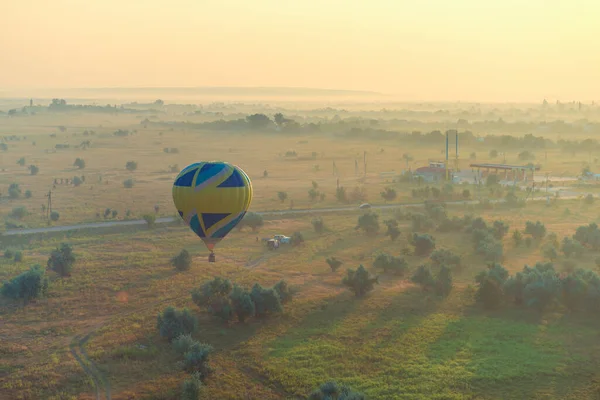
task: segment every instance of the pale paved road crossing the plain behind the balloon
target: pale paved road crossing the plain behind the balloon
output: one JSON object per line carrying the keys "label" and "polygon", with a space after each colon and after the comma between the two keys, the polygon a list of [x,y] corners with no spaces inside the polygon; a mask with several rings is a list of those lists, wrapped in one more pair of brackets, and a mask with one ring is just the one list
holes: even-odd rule
{"label": "pale paved road crossing the plain behind the balloon", "polygon": [[[560,200],[572,200],[576,199],[578,196],[562,196]],[[528,201],[545,201],[545,197],[536,197],[533,199],[529,199]],[[490,200],[491,203],[501,203],[504,200]],[[467,200],[467,201],[449,201],[445,202],[446,204],[477,204],[478,200]],[[390,209],[397,207],[418,207],[423,206],[423,202],[417,203],[393,203],[393,204],[381,204],[381,205],[373,205],[371,208],[373,209]],[[279,210],[279,211],[260,211],[257,214],[263,216],[284,216],[284,215],[293,215],[293,214],[319,214],[319,213],[331,213],[331,212],[344,212],[344,211],[357,211],[358,208],[356,206],[346,206],[346,207],[330,207],[330,208],[312,208],[312,209],[298,209],[298,210]],[[168,224],[175,221],[174,217],[163,217],[157,218],[157,224]],[[143,219],[140,220],[132,220],[132,221],[106,221],[106,222],[92,222],[88,224],[78,224],[78,225],[63,225],[63,226],[48,226],[43,228],[28,228],[28,229],[10,229],[6,230],[2,233],[3,236],[13,236],[13,235],[31,235],[35,233],[50,233],[50,232],[66,232],[73,231],[77,229],[98,229],[98,228],[110,228],[115,226],[131,226],[131,225],[146,225],[146,221]]]}

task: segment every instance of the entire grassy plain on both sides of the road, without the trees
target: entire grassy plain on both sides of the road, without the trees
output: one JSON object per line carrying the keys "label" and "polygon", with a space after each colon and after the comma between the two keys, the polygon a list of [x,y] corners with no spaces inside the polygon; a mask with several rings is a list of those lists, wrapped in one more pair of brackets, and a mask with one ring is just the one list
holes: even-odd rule
{"label": "entire grassy plain on both sides of the road, without the trees", "polygon": [[[0,137],[19,138],[4,141],[7,149],[0,151],[0,214],[7,228],[47,226],[42,204],[46,204],[44,196],[50,189],[52,210],[60,214],[58,221],[52,222],[56,226],[139,219],[155,213],[155,205],[159,206],[159,217],[174,216],[173,178],[185,165],[202,159],[230,161],[248,173],[254,187],[251,211],[347,206],[354,210],[324,214],[326,230],[322,233],[313,229],[311,214],[265,215],[265,225],[256,233],[232,231],[217,247],[214,264],[206,261],[206,249],[189,228],[176,224],[154,229],[134,226],[102,232],[0,236],[0,250],[21,250],[24,257],[18,262],[0,258],[0,282],[33,264],[46,265],[52,250],[61,243],[72,245],[77,260],[70,277],[59,278],[48,272],[50,289],[41,299],[24,306],[20,301],[0,298],[1,399],[179,398],[188,374],[178,366],[178,355],[156,328],[157,314],[168,305],[192,310],[200,322],[194,337],[214,347],[210,356],[213,372],[202,394],[205,399],[304,399],[327,380],[348,384],[369,399],[600,398],[600,322],[596,316],[567,312],[560,305],[544,312],[512,305],[487,311],[475,295],[475,276],[486,270],[487,262],[474,254],[470,233],[420,229],[435,237],[437,249],[449,249],[462,258],[462,267],[453,269],[452,291],[438,298],[410,280],[429,260],[412,253],[414,229],[409,219],[398,217],[395,209],[374,210],[379,215],[379,233],[366,235],[356,229],[357,218],[364,213],[356,206],[366,201],[384,204],[380,193],[388,187],[397,192],[388,202],[392,204],[424,200],[414,197],[412,191],[426,185],[443,189],[443,184],[394,182],[391,175],[381,173],[399,174],[407,165],[414,170],[429,159],[443,158],[444,140],[421,143],[405,140],[402,133],[416,129],[426,133],[442,125],[455,129],[447,121],[456,121],[454,117],[466,111],[452,110],[452,119],[442,113],[436,120],[435,111],[419,115],[422,111],[415,110],[417,116],[409,124],[401,121],[411,114],[408,111],[380,115],[374,105],[370,106],[373,111],[366,111],[367,106],[347,106],[347,114],[341,106],[319,114],[307,106],[286,105],[289,113],[283,111],[284,115],[305,118],[305,124],[320,121],[322,128],[284,133],[272,127],[264,132],[218,131],[182,122],[230,120],[253,112],[272,117],[278,110],[265,105],[214,105],[198,114],[192,106],[124,107],[138,111],[53,113],[36,108],[35,115],[0,116]],[[154,108],[160,112],[146,114]],[[514,123],[525,110],[490,109],[480,113],[480,119],[493,113]],[[590,125],[596,126],[592,111],[588,111]],[[534,109],[530,117],[523,118],[539,123],[539,112]],[[347,119],[347,126],[328,125],[325,120],[331,122],[337,114]],[[354,120],[358,117],[361,122]],[[577,120],[571,117],[567,120]],[[377,136],[360,131],[348,135],[357,126],[377,125],[368,118],[395,133]],[[477,120],[469,120],[472,126],[468,128],[476,129]],[[459,128],[459,135],[465,129]],[[118,130],[129,134],[115,135]],[[489,132],[472,133],[484,137]],[[506,128],[501,133],[511,132]],[[590,136],[577,133],[572,139]],[[548,137],[557,140],[558,134]],[[81,144],[87,140],[90,144],[84,149]],[[56,148],[57,144],[69,147]],[[178,150],[165,152],[165,148]],[[469,155],[474,152],[477,161],[488,161],[490,150],[476,142],[461,145],[460,165],[469,169]],[[589,152],[565,152],[559,145],[548,145],[544,150],[510,146],[496,150],[506,153],[507,163],[539,162],[540,173],[551,171],[556,176],[577,176],[583,167],[593,171],[597,164],[595,147]],[[523,150],[535,153],[536,158],[519,160]],[[292,151],[295,153],[286,156]],[[411,154],[413,159],[406,162],[404,154]],[[17,164],[21,157],[25,158],[23,166]],[[495,162],[502,162],[498,161],[502,157],[497,156]],[[73,166],[76,158],[85,160],[85,168]],[[128,161],[136,161],[137,169],[128,171]],[[337,174],[332,170],[334,162]],[[39,172],[32,175],[28,165],[38,166]],[[173,165],[178,167],[170,168]],[[263,175],[265,170],[267,176]],[[60,183],[54,187],[56,178],[82,175],[85,181],[77,187]],[[125,188],[123,182],[129,178],[133,187]],[[336,199],[338,179],[349,193],[362,188],[360,198],[348,202]],[[325,194],[324,199],[309,198],[313,181]],[[11,183],[20,186],[18,198],[8,195]],[[598,193],[593,182],[556,185],[582,196]],[[463,195],[465,189],[468,197]],[[25,196],[27,190],[31,191],[30,198]],[[286,192],[287,198],[281,201],[278,192]],[[534,195],[543,196],[544,192],[542,189]],[[508,189],[497,185],[454,185],[443,200],[503,199],[507,193]],[[528,196],[525,185],[516,196]],[[525,207],[508,208],[482,201],[448,205],[448,214],[507,223],[510,230],[499,240],[503,246],[499,261],[512,274],[524,265],[548,259],[545,249],[552,242],[550,233],[562,241],[579,226],[600,222],[597,202],[529,202]],[[21,206],[27,213],[11,215]],[[107,208],[116,210],[117,215],[105,218]],[[384,235],[384,221],[391,218],[397,218],[401,232],[395,241]],[[548,231],[545,238],[534,240],[530,247],[517,246],[512,233],[523,231],[526,221],[538,220]],[[304,242],[277,251],[266,250],[257,240],[294,232],[302,233]],[[189,271],[177,272],[170,259],[182,248],[191,253],[193,262]],[[374,268],[380,252],[402,254],[408,262],[404,276]],[[572,264],[599,271],[598,255],[586,250],[581,258],[567,259],[560,253],[554,264],[561,273],[572,271]],[[325,262],[332,256],[344,262],[336,272]],[[379,275],[379,284],[363,298],[355,297],[341,283],[346,269],[360,264]],[[190,295],[193,288],[215,276],[227,277],[246,288],[256,282],[267,287],[285,279],[296,294],[282,313],[227,324],[197,307]]]}

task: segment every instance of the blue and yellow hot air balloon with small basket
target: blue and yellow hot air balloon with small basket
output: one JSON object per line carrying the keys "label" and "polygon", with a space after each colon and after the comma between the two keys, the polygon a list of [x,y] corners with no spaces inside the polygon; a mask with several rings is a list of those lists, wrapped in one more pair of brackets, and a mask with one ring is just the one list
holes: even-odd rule
{"label": "blue and yellow hot air balloon with small basket", "polygon": [[181,218],[210,250],[244,218],[252,201],[248,175],[224,161],[201,161],[185,167],[173,184],[173,202]]}

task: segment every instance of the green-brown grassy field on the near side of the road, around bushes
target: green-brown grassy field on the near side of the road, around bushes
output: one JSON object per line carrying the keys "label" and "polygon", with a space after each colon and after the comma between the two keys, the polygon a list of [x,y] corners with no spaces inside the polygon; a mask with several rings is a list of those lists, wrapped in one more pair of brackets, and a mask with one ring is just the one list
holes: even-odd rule
{"label": "green-brown grassy field on the near side of the road, around bushes", "polygon": [[[577,203],[567,206],[574,210],[568,223],[556,217],[556,209],[541,205],[519,215],[491,211],[489,218],[502,218],[514,228],[522,228],[523,218],[543,219],[560,236],[597,218]],[[99,328],[87,353],[110,381],[113,399],[134,393],[135,398],[176,396],[183,375],[173,368],[176,358],[155,328],[157,312],[168,303],[192,308],[201,320],[196,336],[216,348],[206,398],[298,398],[326,378],[350,383],[370,398],[598,395],[593,383],[600,378],[598,324],[556,312],[482,311],[474,304],[472,285],[485,264],[469,255],[455,234],[435,234],[439,247],[465,254],[466,267],[455,276],[447,299],[434,300],[386,274],[365,299],[354,298],[340,285],[342,271],[332,273],[324,259],[335,255],[347,267],[371,267],[376,251],[398,254],[407,245],[406,234],[396,242],[381,235],[365,238],[354,230],[356,216],[327,217],[329,231],[321,235],[312,232],[309,218],[268,221],[261,234],[298,230],[305,236],[304,245],[279,253],[265,253],[254,235],[234,232],[216,264],[205,262],[206,252],[185,227],[73,235],[68,240],[78,264],[71,278],[56,279],[47,298],[27,307],[3,303],[3,393],[23,399],[86,398],[90,381],[71,357],[69,344],[74,336]],[[401,225],[401,230],[410,232],[410,227]],[[64,240],[28,243],[26,262],[3,262],[0,279],[43,263]],[[509,255],[503,264],[511,271],[543,259],[539,248],[513,250],[509,240],[505,246]],[[175,272],[168,262],[181,247],[194,255],[185,273]],[[411,270],[424,261],[407,259]],[[595,268],[593,257],[579,263]],[[199,310],[189,296],[193,287],[216,275],[245,286],[285,278],[298,293],[280,316],[227,326]],[[367,364],[368,372],[361,367]]]}

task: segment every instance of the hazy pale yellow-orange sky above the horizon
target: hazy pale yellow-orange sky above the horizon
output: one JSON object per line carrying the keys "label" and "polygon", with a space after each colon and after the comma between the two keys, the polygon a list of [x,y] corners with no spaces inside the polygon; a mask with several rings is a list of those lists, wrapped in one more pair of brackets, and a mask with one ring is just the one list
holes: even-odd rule
{"label": "hazy pale yellow-orange sky above the horizon", "polygon": [[3,88],[600,100],[600,0],[0,0]]}

